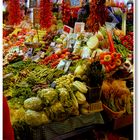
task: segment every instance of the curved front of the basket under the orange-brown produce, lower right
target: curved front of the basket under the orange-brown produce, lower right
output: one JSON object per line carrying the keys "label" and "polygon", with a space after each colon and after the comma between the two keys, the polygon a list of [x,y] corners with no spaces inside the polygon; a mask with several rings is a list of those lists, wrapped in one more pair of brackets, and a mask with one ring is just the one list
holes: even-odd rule
{"label": "curved front of the basket under the orange-brown produce, lower right", "polygon": [[121,110],[119,112],[114,112],[113,110],[111,110],[109,107],[107,107],[105,104],[103,104],[103,108],[104,111],[109,115],[110,118],[112,119],[117,119],[120,118],[125,112],[126,110]]}

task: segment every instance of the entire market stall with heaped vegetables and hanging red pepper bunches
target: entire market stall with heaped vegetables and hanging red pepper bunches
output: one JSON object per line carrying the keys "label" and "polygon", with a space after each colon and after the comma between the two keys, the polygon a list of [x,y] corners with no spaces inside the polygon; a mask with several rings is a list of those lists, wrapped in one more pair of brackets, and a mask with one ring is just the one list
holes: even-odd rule
{"label": "entire market stall with heaped vegetables and hanging red pepper bunches", "polygon": [[[68,138],[77,129],[106,124],[105,117],[133,117],[135,48],[127,6],[92,0],[86,22],[71,26],[80,7],[52,5],[41,0],[33,22],[27,15],[14,20],[10,11],[10,26],[3,25],[3,94],[16,139],[62,139],[73,132]],[[108,7],[123,13],[121,29],[117,19],[107,20]]]}

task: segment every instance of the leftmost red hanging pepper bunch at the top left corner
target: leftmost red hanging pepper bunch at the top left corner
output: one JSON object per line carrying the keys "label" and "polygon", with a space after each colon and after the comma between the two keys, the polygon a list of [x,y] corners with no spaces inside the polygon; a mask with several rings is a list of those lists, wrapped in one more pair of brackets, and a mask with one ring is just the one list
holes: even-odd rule
{"label": "leftmost red hanging pepper bunch at the top left corner", "polygon": [[22,15],[20,11],[19,0],[9,0],[8,3],[8,23],[10,25],[18,25],[22,20]]}

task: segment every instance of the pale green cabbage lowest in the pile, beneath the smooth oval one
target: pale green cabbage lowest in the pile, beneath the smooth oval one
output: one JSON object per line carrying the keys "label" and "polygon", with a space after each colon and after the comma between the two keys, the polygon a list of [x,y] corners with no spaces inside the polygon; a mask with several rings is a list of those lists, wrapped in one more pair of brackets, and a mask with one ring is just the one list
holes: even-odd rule
{"label": "pale green cabbage lowest in the pile, beneath the smooth oval one", "polygon": [[48,123],[49,119],[45,112],[36,112],[29,109],[25,112],[25,122],[31,126],[40,126]]}

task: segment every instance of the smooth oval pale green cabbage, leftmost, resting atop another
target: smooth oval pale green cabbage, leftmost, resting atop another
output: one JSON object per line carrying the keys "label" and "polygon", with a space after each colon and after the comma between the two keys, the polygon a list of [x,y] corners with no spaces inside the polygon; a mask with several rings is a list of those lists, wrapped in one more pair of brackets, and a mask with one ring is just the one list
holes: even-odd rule
{"label": "smooth oval pale green cabbage, leftmost, resting atop another", "polygon": [[38,97],[31,97],[24,101],[24,107],[26,109],[40,110],[42,108],[42,101]]}

